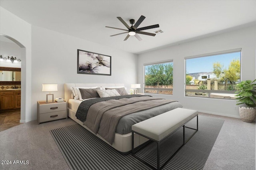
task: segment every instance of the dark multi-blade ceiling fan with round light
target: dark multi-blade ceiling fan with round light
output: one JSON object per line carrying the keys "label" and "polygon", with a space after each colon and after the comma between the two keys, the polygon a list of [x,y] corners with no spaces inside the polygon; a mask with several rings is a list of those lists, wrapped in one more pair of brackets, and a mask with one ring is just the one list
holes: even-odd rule
{"label": "dark multi-blade ceiling fan with round light", "polygon": [[[156,24],[156,25],[152,25],[152,26],[138,28],[138,26],[146,18],[144,16],[140,16],[140,18],[138,19],[138,21],[136,23],[135,23],[134,19],[131,19],[130,20],[130,24],[132,24],[131,27],[129,27],[128,24],[126,24],[126,22],[121,17],[116,17],[116,18],[118,18],[118,20],[120,20],[124,24],[124,26],[126,26],[126,28],[128,28],[128,30],[124,30],[124,29],[121,29],[121,28],[108,27],[108,26],[106,26],[106,28],[114,28],[114,29],[117,29],[117,30],[124,30],[124,31],[126,31],[126,32],[120,33],[120,34],[128,33],[128,35],[126,36],[124,41],[126,41],[130,36],[135,36],[139,41],[141,41],[142,39],[140,38],[140,36],[138,34],[144,34],[144,35],[147,35],[147,36],[155,36],[156,34],[149,33],[149,32],[142,32],[142,30],[148,30],[148,29],[158,28],[159,27],[159,24]],[[115,35],[112,35],[112,36],[118,36],[120,34],[115,34]],[[112,36],[110,36],[110,37],[112,37]]]}

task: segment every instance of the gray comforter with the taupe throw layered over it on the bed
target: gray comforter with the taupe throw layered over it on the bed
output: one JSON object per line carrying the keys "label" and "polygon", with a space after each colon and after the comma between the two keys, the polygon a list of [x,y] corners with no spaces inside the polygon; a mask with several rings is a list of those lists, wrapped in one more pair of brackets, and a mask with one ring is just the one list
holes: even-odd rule
{"label": "gray comforter with the taupe throw layered over it on the bed", "polygon": [[116,131],[120,131],[120,134],[129,133],[135,123],[177,107],[182,107],[177,101],[149,96],[102,101],[90,106],[84,125],[112,144]]}

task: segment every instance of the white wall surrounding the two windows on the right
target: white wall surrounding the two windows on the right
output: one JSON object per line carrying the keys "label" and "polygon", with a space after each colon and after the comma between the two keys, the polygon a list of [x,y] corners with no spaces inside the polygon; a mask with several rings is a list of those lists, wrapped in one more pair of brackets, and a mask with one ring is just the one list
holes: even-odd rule
{"label": "white wall surrounding the two windows on the right", "polygon": [[[173,59],[173,95],[154,95],[155,97],[177,100],[182,103],[184,108],[188,109],[196,109],[216,115],[239,117],[238,109],[235,110],[235,107],[239,106],[236,106],[236,101],[234,100],[185,97],[184,92],[184,57],[237,48],[242,48],[242,80],[254,80],[256,77],[256,26],[251,26],[249,28],[140,54],[138,56],[138,83],[144,83],[144,63]],[[143,89],[139,89],[139,92],[142,93]]]}

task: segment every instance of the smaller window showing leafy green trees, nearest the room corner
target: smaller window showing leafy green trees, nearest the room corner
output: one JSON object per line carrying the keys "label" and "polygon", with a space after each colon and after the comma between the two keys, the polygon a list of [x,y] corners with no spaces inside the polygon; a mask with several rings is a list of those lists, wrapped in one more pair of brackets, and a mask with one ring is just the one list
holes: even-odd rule
{"label": "smaller window showing leafy green trees, nearest the room corner", "polygon": [[144,65],[144,93],[172,95],[172,61]]}

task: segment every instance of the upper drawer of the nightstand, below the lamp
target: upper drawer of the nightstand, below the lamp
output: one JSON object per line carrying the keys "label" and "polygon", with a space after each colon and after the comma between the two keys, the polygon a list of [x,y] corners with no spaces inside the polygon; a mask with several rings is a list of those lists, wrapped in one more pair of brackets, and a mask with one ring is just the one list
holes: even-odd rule
{"label": "upper drawer of the nightstand, below the lamp", "polygon": [[49,112],[57,112],[57,111],[66,111],[67,103],[48,103],[44,105],[40,105],[39,114],[49,113]]}

